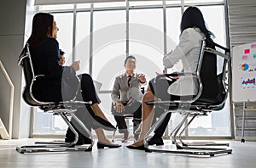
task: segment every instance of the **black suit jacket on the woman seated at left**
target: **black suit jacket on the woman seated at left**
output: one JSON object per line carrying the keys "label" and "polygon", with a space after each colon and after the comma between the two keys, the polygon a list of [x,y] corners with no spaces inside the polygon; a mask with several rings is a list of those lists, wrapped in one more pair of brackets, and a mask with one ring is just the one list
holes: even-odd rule
{"label": "black suit jacket on the woman seated at left", "polygon": [[[59,43],[55,38],[45,38],[38,48],[33,48],[31,44],[30,51],[35,75],[47,76],[45,79],[34,83],[32,92],[36,98],[42,101],[61,101],[73,97],[74,93],[69,92],[72,90],[70,88],[74,87],[73,82],[67,81],[73,81],[76,72],[70,66],[61,66],[59,62]],[[62,77],[65,78],[66,76],[68,76],[68,79],[63,81]],[[74,78],[72,79],[70,76]],[[62,94],[63,92],[65,93]]]}

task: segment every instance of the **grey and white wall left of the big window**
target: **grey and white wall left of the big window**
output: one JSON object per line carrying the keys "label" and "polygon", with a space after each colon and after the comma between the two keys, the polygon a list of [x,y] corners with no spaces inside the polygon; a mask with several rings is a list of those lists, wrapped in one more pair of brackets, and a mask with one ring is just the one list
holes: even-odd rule
{"label": "grey and white wall left of the big window", "polygon": [[[1,1],[0,6],[0,60],[15,86],[13,138],[29,136],[30,108],[21,101],[22,74],[20,66],[17,65],[17,60],[25,41],[27,2],[31,1]],[[0,80],[1,85],[2,83],[4,83],[3,86],[7,85],[7,81],[4,81],[3,78],[0,78]],[[6,116],[9,116],[9,92],[6,92],[6,90],[4,92],[1,91],[0,100],[0,117],[1,115],[4,116],[3,123],[8,127],[9,119]],[[20,110],[21,106],[22,110]]]}

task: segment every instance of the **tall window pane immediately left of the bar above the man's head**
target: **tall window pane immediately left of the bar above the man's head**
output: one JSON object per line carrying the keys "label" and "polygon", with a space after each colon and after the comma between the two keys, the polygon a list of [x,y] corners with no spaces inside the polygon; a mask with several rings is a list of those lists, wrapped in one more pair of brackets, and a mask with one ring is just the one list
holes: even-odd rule
{"label": "tall window pane immediately left of the bar above the man's head", "polygon": [[124,70],[119,60],[125,58],[125,26],[125,10],[94,13],[92,76],[102,90],[111,90],[114,76]]}

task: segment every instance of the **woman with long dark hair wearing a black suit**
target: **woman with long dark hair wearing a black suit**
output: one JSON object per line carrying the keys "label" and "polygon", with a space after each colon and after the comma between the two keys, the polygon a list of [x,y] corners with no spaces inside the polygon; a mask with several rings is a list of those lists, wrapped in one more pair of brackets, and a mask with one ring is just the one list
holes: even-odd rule
{"label": "woman with long dark hair wearing a black suit", "polygon": [[[102,130],[102,127],[113,130],[114,126],[108,122],[99,107],[100,100],[96,95],[91,76],[88,74],[79,76],[79,85],[74,85],[75,82],[68,82],[68,80],[63,81],[65,76],[75,77],[76,71],[79,70],[79,61],[73,62],[71,66],[61,66],[59,43],[56,41],[57,31],[59,29],[53,15],[46,13],[34,15],[32,34],[27,43],[29,43],[35,75],[46,75],[47,77],[34,83],[33,95],[41,101],[61,102],[70,100],[74,96],[79,100],[91,101],[91,105],[84,106],[84,109],[78,109],[75,115],[79,115],[79,119],[89,130],[91,127],[95,129],[98,137],[98,148],[119,148],[120,145],[113,144],[108,140]],[[81,91],[78,92],[78,95],[75,92],[77,91],[76,87],[79,87],[79,91]],[[78,126],[76,123],[73,125]],[[83,131],[81,132],[83,133]]]}

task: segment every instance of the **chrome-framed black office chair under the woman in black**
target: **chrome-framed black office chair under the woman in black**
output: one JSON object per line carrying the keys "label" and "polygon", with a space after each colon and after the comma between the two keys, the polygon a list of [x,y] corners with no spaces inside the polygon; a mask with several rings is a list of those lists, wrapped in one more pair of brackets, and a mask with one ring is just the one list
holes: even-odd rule
{"label": "chrome-framed black office chair under the woman in black", "polygon": [[[25,153],[37,153],[37,152],[61,152],[61,151],[67,151],[67,150],[84,150],[84,151],[91,151],[93,146],[93,140],[91,141],[91,144],[89,147],[76,147],[75,144],[78,142],[79,134],[76,132],[76,130],[73,127],[73,124],[71,121],[67,118],[67,116],[72,116],[74,120],[76,120],[79,125],[84,129],[84,132],[86,132],[88,135],[90,135],[90,138],[92,139],[91,132],[84,126],[83,122],[79,120],[79,118],[74,115],[75,111],[78,108],[84,107],[84,104],[91,104],[91,102],[84,102],[84,101],[77,101],[75,98],[69,100],[69,101],[63,101],[63,102],[42,102],[39,101],[37,98],[33,96],[32,93],[32,85],[37,80],[44,80],[46,77],[45,75],[34,75],[34,70],[32,66],[32,59],[31,59],[31,53],[29,51],[29,44],[26,44],[25,48],[20,53],[20,58],[18,61],[18,64],[22,67],[25,81],[26,81],[26,87],[23,90],[23,99],[26,102],[26,104],[32,106],[32,107],[38,107],[39,109],[43,109],[45,113],[52,113],[54,115],[61,115],[61,118],[66,122],[67,126],[72,130],[72,132],[75,134],[75,139],[72,143],[57,143],[57,142],[50,142],[50,143],[39,143],[36,142],[35,145],[23,145],[16,147],[16,150],[20,154]],[[79,78],[77,77],[77,80]],[[78,92],[78,90],[77,90]]]}

